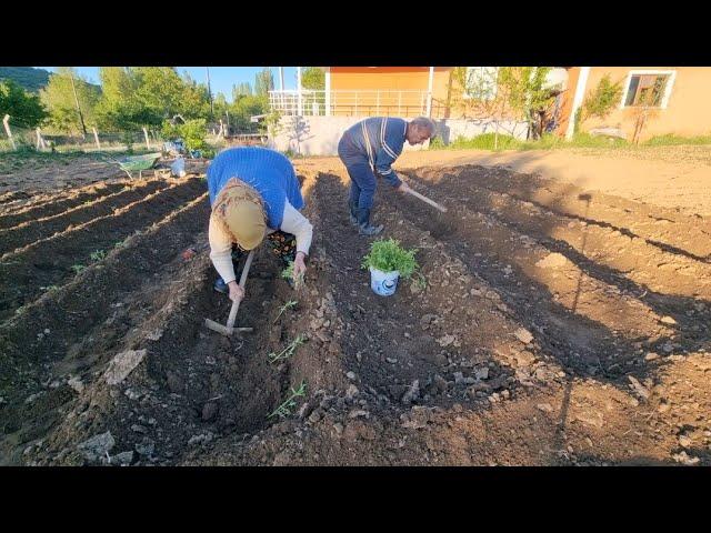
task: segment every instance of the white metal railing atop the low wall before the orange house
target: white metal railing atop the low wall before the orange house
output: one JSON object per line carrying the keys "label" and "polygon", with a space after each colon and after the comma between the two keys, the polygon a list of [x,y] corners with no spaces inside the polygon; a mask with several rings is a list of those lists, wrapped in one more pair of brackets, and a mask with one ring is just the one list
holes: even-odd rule
{"label": "white metal railing atop the low wall before the orange house", "polygon": [[[413,90],[296,90],[269,91],[272,111],[288,117],[417,117],[427,114],[428,91]],[[445,108],[432,102],[432,118]]]}

